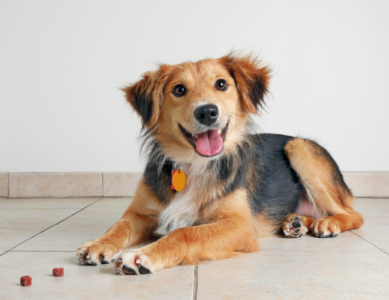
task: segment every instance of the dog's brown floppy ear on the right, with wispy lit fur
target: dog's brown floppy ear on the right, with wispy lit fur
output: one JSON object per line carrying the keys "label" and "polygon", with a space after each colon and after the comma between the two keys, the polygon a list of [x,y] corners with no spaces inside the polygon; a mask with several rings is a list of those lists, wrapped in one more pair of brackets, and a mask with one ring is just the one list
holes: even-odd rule
{"label": "dog's brown floppy ear on the right, with wispy lit fur", "polygon": [[228,54],[220,59],[234,78],[247,111],[256,114],[258,108],[263,107],[270,78],[269,67],[261,66],[260,61],[251,55],[236,57]]}

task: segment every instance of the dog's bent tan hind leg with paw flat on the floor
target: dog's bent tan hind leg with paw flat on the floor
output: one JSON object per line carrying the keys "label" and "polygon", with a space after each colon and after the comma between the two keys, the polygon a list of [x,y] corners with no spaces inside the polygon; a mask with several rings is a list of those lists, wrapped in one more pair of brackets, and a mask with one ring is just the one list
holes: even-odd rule
{"label": "dog's bent tan hind leg with paw flat on the floor", "polygon": [[315,236],[334,237],[363,224],[362,215],[354,210],[354,197],[327,150],[315,142],[295,138],[286,144],[285,153],[308,200],[323,216],[307,227]]}

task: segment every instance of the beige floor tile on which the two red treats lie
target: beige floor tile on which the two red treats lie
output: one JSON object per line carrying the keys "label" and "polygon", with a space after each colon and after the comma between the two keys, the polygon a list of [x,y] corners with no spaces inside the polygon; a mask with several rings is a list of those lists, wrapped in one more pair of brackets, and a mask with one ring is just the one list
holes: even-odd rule
{"label": "beige floor tile on which the two red treats lie", "polygon": [[[81,266],[75,252],[8,252],[0,256],[0,299],[192,299],[193,266],[148,275],[116,275],[111,264]],[[64,268],[53,277],[53,268]],[[20,286],[31,276],[30,287]]]}

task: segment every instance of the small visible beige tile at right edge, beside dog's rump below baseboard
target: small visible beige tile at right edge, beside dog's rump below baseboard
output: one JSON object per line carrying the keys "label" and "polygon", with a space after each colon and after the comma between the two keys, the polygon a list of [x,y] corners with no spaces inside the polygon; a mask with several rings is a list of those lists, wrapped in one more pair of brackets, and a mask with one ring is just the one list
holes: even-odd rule
{"label": "small visible beige tile at right edge, beside dog's rump below baseboard", "polygon": [[357,198],[354,208],[363,215],[363,226],[389,226],[389,198]]}

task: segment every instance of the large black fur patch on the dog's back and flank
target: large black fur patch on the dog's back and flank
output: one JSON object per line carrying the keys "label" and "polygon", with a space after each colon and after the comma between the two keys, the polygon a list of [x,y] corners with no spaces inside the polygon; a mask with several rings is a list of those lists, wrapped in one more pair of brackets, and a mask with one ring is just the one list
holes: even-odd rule
{"label": "large black fur patch on the dog's back and flank", "polygon": [[252,135],[237,146],[234,154],[219,160],[219,182],[224,195],[243,187],[248,191],[254,213],[264,212],[276,222],[297,209],[302,194],[296,172],[285,154],[293,139],[282,135]]}

